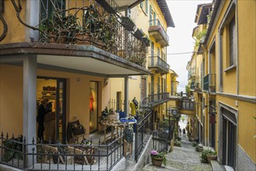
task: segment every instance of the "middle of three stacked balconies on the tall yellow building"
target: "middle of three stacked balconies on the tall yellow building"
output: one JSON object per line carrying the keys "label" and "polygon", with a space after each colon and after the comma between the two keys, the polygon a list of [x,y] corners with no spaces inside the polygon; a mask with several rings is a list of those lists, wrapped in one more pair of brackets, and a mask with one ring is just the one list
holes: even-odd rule
{"label": "middle of three stacked balconies on the tall yellow building", "polygon": [[159,56],[150,56],[148,68],[156,70],[158,73],[167,74],[169,72],[170,65],[168,65],[166,61],[163,61]]}

